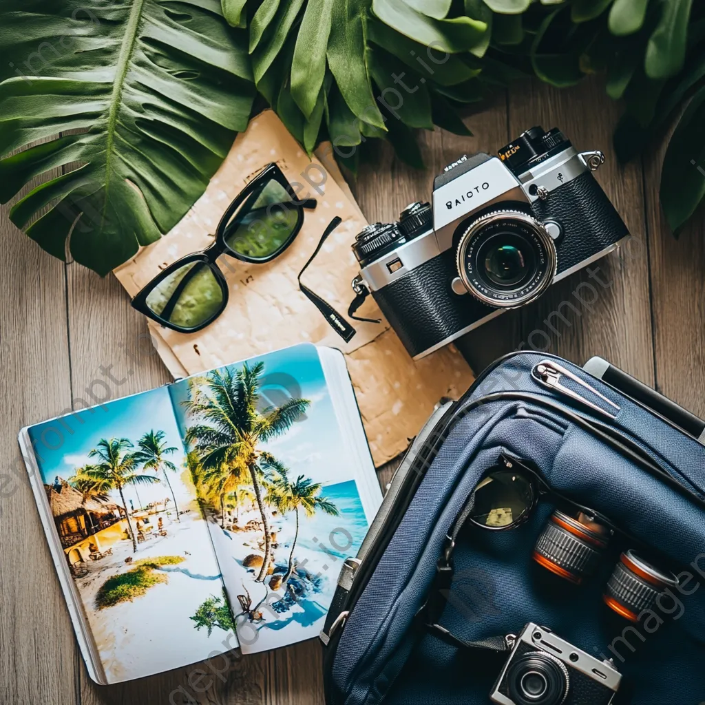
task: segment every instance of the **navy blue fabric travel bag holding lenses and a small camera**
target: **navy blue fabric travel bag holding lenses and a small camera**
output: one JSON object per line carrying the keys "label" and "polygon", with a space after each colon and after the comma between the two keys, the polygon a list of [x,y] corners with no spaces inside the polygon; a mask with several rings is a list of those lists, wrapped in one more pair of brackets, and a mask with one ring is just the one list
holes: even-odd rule
{"label": "navy blue fabric travel bag holding lenses and a small camera", "polygon": [[[536,368],[546,360],[611,404],[570,377],[562,379],[568,393],[540,384]],[[438,603],[448,533],[503,454],[670,560],[680,584],[655,608],[656,618],[630,624],[603,603],[620,553],[630,548],[622,537],[580,586],[537,565],[534,544],[555,508],[549,499],[507,531],[462,526],[452,581],[436,610],[453,638],[424,629],[419,614],[431,596]],[[434,412],[360,553],[343,565],[321,633],[326,702],[486,705],[508,657],[493,644],[530,622],[600,660],[611,658],[624,679],[615,703],[705,701],[705,446],[580,367],[522,352],[496,362],[465,396]]]}

